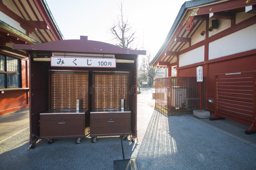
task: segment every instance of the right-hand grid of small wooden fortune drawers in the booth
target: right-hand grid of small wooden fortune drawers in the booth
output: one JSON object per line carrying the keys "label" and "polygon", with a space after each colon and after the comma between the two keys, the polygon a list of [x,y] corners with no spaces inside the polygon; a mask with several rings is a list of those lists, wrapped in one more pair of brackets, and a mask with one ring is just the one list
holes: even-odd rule
{"label": "right-hand grid of small wooden fortune drawers in the booth", "polygon": [[94,109],[128,108],[128,73],[94,72]]}

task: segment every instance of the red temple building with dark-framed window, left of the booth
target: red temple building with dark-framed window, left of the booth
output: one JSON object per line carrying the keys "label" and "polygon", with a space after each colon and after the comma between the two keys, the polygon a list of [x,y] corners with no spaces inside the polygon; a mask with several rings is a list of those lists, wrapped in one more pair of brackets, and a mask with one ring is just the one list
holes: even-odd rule
{"label": "red temple building with dark-framed window, left of the booth", "polygon": [[29,107],[28,53],[12,45],[62,39],[45,0],[0,0],[0,115]]}

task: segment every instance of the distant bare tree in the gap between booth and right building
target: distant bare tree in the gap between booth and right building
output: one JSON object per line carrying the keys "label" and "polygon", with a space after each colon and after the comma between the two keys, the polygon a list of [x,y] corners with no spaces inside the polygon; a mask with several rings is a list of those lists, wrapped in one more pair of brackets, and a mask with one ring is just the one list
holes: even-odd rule
{"label": "distant bare tree in the gap between booth and right building", "polygon": [[150,61],[152,59],[151,54],[148,54],[144,60],[144,62],[142,63],[142,68],[145,68],[145,73],[148,76],[148,86],[152,87],[153,83],[154,83],[154,77],[156,76],[156,73],[158,72],[159,68],[154,68],[152,66],[149,65]]}

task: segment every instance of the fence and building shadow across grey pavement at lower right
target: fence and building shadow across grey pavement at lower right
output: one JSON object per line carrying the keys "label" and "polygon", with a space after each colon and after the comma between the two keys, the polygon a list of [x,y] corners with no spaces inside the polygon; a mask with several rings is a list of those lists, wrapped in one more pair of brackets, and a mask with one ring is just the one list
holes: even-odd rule
{"label": "fence and building shadow across grey pavement at lower right", "polygon": [[166,117],[154,110],[133,156],[138,169],[255,169],[255,152],[256,148],[188,117]]}

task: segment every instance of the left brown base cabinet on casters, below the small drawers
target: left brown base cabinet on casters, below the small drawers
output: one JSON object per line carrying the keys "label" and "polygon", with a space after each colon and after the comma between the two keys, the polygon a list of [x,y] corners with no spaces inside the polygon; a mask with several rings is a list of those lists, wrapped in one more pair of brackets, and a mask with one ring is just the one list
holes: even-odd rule
{"label": "left brown base cabinet on casters, below the small drawers", "polygon": [[40,138],[83,138],[85,113],[40,113]]}

